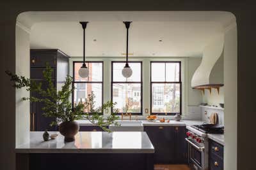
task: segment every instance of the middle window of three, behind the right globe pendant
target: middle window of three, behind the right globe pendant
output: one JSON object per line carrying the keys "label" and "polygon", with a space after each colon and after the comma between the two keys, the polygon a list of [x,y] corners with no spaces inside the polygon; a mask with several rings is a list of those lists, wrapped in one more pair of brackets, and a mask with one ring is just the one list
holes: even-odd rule
{"label": "middle window of three, behind the right globe pendant", "polygon": [[112,62],[111,99],[119,113],[142,114],[142,62],[129,62],[132,76],[125,78],[125,62]]}

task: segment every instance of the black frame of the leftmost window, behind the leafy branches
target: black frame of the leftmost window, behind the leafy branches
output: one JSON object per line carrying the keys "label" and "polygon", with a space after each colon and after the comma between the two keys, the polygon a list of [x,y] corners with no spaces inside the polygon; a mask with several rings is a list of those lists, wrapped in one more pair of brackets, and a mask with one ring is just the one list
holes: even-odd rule
{"label": "black frame of the leftmost window, behind the leafy branches", "polygon": [[[104,89],[104,61],[86,61],[85,63],[90,63],[90,62],[101,62],[102,63],[102,81],[74,81],[74,78],[75,78],[75,64],[76,63],[83,63],[83,61],[73,61],[73,73],[72,73],[72,89],[73,89],[73,92],[72,92],[72,108],[74,108],[74,84],[75,83],[101,83],[102,84],[102,103],[101,103],[101,106],[103,105],[103,99],[104,99],[104,92],[103,92],[103,89]],[[100,113],[100,115],[103,115],[103,110],[102,110],[102,113]],[[91,114],[90,112],[87,112],[89,114]]]}

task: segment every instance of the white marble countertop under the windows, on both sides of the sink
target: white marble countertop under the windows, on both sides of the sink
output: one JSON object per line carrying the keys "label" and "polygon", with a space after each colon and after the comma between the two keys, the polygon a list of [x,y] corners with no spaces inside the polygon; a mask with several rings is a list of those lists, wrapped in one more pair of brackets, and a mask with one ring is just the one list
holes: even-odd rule
{"label": "white marble countertop under the windows, on both sides of the sink", "polygon": [[[130,121],[130,120],[123,120],[123,121]],[[132,121],[136,121],[136,120],[132,120]],[[199,125],[199,124],[203,124],[204,122],[201,120],[180,120],[179,122],[175,121],[175,120],[170,120],[169,123],[165,122],[165,123],[161,123],[161,122],[148,122],[148,120],[138,120],[141,121],[142,124],[144,126],[165,126],[165,125],[170,125],[170,126],[185,126],[185,125]],[[88,120],[76,120],[76,122],[81,125],[81,126],[90,126],[90,125],[94,125],[91,122],[89,122]]]}

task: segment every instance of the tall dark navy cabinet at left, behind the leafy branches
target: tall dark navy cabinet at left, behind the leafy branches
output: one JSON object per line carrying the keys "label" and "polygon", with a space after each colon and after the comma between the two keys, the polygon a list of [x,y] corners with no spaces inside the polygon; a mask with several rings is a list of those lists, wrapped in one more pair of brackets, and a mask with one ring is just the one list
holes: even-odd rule
{"label": "tall dark navy cabinet at left, behind the leafy branches", "polygon": [[[60,90],[64,84],[65,78],[68,74],[68,56],[58,49],[50,50],[30,50],[30,78],[33,81],[42,83],[42,88],[46,88],[43,71],[46,63],[52,67],[52,81],[56,90]],[[30,96],[38,96],[35,92],[31,92]],[[30,131],[56,131],[56,127],[51,127],[49,124],[54,118],[45,118],[42,114],[42,103],[30,104]]]}

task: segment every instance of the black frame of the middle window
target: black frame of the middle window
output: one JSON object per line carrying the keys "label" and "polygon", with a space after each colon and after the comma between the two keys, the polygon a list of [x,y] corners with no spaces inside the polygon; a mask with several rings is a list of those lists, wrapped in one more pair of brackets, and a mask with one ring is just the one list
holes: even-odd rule
{"label": "black frame of the middle window", "polygon": [[[143,78],[142,78],[142,61],[129,61],[128,63],[140,63],[140,69],[141,69],[141,80],[140,81],[113,81],[113,64],[119,62],[119,63],[124,63],[125,61],[111,61],[111,101],[113,101],[113,84],[114,83],[140,83],[141,85],[141,108],[140,108],[140,113],[131,113],[132,115],[142,115],[143,114]],[[111,108],[111,113],[113,113],[113,108]],[[122,115],[125,114],[124,112],[118,112],[117,115]]]}

